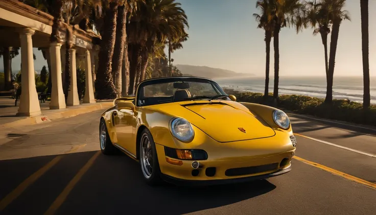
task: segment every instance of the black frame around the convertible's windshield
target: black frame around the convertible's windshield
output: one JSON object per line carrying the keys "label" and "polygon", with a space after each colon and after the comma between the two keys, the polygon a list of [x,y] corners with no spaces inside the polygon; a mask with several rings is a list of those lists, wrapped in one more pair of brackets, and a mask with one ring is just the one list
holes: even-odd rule
{"label": "black frame around the convertible's windshield", "polygon": [[[198,82],[198,83],[210,83],[215,90],[218,91],[219,94],[222,95],[227,95],[225,91],[223,91],[222,87],[218,85],[217,82],[210,80],[210,79],[205,79],[205,78],[197,78],[197,77],[168,77],[168,78],[157,78],[157,79],[149,79],[145,80],[141,83],[138,84],[137,86],[137,92],[136,92],[136,98],[135,98],[135,105],[137,107],[144,107],[144,106],[149,106],[149,105],[156,105],[156,104],[146,104],[146,105],[139,105],[138,104],[138,99],[140,98],[140,95],[142,93],[142,90],[144,89],[145,86],[148,85],[154,85],[154,84],[163,84],[163,83],[173,83],[173,82]],[[157,103],[157,104],[167,104],[167,103],[173,103],[175,101],[171,102],[163,102],[163,103]]]}

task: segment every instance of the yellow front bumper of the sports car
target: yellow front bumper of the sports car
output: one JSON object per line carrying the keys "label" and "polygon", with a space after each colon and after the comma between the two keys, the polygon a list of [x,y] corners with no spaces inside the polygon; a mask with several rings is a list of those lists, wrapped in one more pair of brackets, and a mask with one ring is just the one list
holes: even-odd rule
{"label": "yellow front bumper of the sports car", "polygon": [[164,146],[156,144],[160,171],[163,179],[175,184],[221,184],[278,176],[291,170],[291,159],[295,152],[295,149],[290,149],[262,153],[232,148],[213,153],[206,149],[209,157],[197,160],[200,165],[194,169],[192,164],[195,160],[171,158],[164,149]]}

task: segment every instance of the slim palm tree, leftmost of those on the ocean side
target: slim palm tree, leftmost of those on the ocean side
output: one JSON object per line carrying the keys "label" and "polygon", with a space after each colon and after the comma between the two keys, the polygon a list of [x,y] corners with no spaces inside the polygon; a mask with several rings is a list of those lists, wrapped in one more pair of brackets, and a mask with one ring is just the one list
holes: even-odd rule
{"label": "slim palm tree, leftmost of those on the ocean side", "polygon": [[256,2],[256,8],[261,8],[261,14],[254,13],[256,21],[259,22],[257,28],[265,31],[266,46],[266,65],[265,65],[265,91],[264,98],[268,98],[269,94],[269,67],[270,67],[270,41],[273,36],[274,20],[272,17],[271,5],[268,0],[259,0]]}

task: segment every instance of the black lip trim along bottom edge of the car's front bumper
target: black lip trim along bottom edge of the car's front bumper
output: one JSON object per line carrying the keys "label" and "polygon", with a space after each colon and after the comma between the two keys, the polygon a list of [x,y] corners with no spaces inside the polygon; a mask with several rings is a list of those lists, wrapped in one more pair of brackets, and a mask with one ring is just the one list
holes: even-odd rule
{"label": "black lip trim along bottom edge of the car's front bumper", "polygon": [[248,176],[248,177],[242,177],[242,178],[217,179],[217,180],[185,180],[185,179],[179,179],[179,178],[175,178],[175,177],[165,175],[165,174],[161,174],[161,178],[175,185],[207,186],[207,185],[243,183],[243,182],[248,182],[248,181],[267,179],[267,178],[283,175],[290,171],[291,171],[291,165],[284,170],[277,170],[273,173],[257,175],[257,176]]}

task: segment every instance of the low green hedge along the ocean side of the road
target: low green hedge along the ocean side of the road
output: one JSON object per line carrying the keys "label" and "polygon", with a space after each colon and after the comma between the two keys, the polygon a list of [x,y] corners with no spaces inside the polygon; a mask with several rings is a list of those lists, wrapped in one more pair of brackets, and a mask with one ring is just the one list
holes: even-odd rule
{"label": "low green hedge along the ocean side of the road", "polygon": [[[233,89],[224,89],[227,94],[237,97],[237,101],[265,104],[273,106],[272,93],[265,101],[263,93],[240,92]],[[280,95],[277,107],[296,113],[309,114],[331,120],[345,121],[357,124],[376,126],[376,105],[371,105],[367,110],[363,105],[349,100],[333,100],[332,104],[325,104],[324,99],[306,95]]]}

